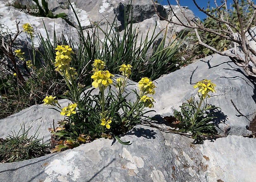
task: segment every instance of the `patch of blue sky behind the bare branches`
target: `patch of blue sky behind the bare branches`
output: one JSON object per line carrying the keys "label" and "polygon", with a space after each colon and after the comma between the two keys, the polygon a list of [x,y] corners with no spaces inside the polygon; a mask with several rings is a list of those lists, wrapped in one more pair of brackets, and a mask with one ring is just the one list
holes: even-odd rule
{"label": "patch of blue sky behind the bare branches", "polygon": [[[211,7],[216,7],[214,0],[196,0],[197,4],[199,5],[199,7],[204,7],[204,9],[207,8],[208,5],[208,1],[210,1],[210,9]],[[220,3],[221,0],[217,0],[217,4],[221,5]],[[167,0],[159,0],[161,5],[168,5]],[[177,5],[175,0],[169,0],[171,5]],[[228,0],[228,5],[230,5],[231,2],[233,2],[233,0]],[[197,7],[194,5],[193,0],[180,0],[180,5],[181,6],[188,6],[192,12],[195,14],[195,16],[198,16],[201,20],[203,20],[204,18],[206,18],[206,15],[202,12],[199,12],[199,10],[197,9]]]}

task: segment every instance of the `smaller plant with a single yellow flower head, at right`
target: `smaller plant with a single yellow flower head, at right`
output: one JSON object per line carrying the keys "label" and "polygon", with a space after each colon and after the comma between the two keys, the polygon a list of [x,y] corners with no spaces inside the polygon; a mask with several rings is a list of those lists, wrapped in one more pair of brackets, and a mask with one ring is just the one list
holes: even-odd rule
{"label": "smaller plant with a single yellow flower head, at right", "polygon": [[216,135],[218,132],[213,122],[214,113],[220,109],[213,105],[207,104],[206,98],[210,98],[208,94],[216,92],[216,85],[211,80],[204,79],[198,82],[194,88],[199,88],[199,101],[191,96],[186,103],[180,106],[180,111],[174,110],[173,115],[176,121],[173,122],[179,128],[178,130],[169,129],[171,131],[190,133],[194,139],[193,144],[200,144],[204,137]]}

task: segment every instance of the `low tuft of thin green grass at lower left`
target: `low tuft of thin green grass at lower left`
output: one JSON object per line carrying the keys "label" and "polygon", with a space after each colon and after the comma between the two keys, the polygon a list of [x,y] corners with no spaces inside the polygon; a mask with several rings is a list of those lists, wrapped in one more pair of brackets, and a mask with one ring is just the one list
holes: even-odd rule
{"label": "low tuft of thin green grass at lower left", "polygon": [[[37,139],[36,133],[28,136],[28,131],[21,126],[18,133],[12,132],[6,139],[0,138],[0,162],[18,162],[50,154],[49,143],[42,144],[43,139]],[[38,128],[39,129],[39,128]]]}

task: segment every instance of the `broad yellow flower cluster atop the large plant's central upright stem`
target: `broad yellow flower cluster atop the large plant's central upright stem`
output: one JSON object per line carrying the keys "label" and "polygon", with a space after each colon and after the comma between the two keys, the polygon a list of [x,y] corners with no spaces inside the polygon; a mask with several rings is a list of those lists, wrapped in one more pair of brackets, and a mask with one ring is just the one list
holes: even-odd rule
{"label": "broad yellow flower cluster atop the large plant's central upright stem", "polygon": [[109,71],[98,71],[95,72],[91,78],[93,79],[92,82],[92,86],[94,86],[95,88],[97,88],[100,84],[100,86],[104,85],[109,86],[109,84],[112,84],[112,77],[114,77],[114,75],[112,75],[111,73],[109,73]]}

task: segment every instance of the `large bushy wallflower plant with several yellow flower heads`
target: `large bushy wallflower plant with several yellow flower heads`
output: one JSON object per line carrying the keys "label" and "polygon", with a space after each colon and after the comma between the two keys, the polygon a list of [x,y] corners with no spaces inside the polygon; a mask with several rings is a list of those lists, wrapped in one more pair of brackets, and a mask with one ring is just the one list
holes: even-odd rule
{"label": "large bushy wallflower plant with several yellow flower heads", "polygon": [[[151,79],[143,77],[139,85],[140,92],[134,90],[137,99],[131,103],[126,100],[124,89],[126,81],[132,74],[132,66],[123,64],[119,66],[122,77],[116,80],[117,91],[111,89],[113,76],[109,70],[104,70],[106,64],[101,60],[94,60],[92,64],[92,86],[85,87],[78,83],[76,69],[70,67],[74,52],[69,45],[60,45],[56,48],[56,59],[53,62],[55,70],[63,76],[69,90],[65,96],[59,96],[70,100],[70,103],[62,108],[56,100],[56,96],[46,96],[44,105],[52,105],[52,109],[60,112],[65,119],[59,121],[59,127],[49,128],[52,133],[52,142],[57,143],[52,152],[62,149],[74,148],[81,144],[91,142],[97,138],[116,138],[123,142],[117,135],[124,134],[136,124],[140,124],[142,117],[150,111],[145,107],[154,107],[154,99],[148,94],[154,94],[156,87]],[[87,91],[85,91],[88,89]],[[92,95],[91,92],[98,89],[99,93]],[[57,107],[57,109],[56,109]]]}

